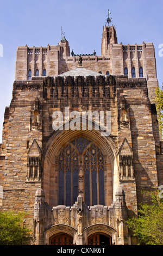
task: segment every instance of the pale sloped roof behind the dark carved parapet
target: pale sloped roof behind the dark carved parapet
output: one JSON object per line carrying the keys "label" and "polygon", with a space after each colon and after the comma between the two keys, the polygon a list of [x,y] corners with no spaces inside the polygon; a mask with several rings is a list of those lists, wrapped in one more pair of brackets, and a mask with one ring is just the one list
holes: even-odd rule
{"label": "pale sloped roof behind the dark carved parapet", "polygon": [[83,68],[83,66],[79,66],[76,69],[72,69],[70,71],[67,71],[63,74],[60,74],[59,76],[103,76],[102,74],[99,74],[98,72],[89,70],[89,69],[85,69]]}

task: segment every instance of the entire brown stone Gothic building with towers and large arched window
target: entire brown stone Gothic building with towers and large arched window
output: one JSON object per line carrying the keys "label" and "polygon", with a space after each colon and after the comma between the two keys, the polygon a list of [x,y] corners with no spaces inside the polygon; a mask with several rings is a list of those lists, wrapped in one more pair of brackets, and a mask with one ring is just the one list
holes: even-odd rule
{"label": "entire brown stone Gothic building with towers and large arched window", "polygon": [[101,56],[19,46],[0,147],[1,210],[24,211],[34,245],[135,245],[129,216],[162,185],[152,43]]}

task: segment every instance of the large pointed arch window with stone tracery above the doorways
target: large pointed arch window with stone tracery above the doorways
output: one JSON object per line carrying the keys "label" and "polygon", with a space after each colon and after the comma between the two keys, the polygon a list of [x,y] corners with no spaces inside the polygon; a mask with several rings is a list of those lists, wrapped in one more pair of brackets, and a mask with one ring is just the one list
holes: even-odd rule
{"label": "large pointed arch window with stone tracery above the doorways", "polygon": [[83,137],[67,143],[58,155],[57,170],[58,205],[73,205],[79,193],[88,206],[104,205],[104,156],[96,143]]}

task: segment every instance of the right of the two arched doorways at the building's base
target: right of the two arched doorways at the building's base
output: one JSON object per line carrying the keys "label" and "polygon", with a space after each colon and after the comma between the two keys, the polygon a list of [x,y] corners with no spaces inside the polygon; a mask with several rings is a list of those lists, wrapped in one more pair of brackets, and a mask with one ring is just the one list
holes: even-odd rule
{"label": "right of the two arched doorways at the building's base", "polygon": [[109,246],[112,245],[112,239],[110,235],[95,234],[88,237],[88,245]]}

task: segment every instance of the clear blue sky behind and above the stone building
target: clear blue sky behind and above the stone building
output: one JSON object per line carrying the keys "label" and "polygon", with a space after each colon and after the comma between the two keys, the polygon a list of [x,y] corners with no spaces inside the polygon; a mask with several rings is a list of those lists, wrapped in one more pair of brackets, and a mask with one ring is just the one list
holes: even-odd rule
{"label": "clear blue sky behind and above the stone building", "polygon": [[[58,45],[61,26],[75,54],[101,54],[102,29],[108,9],[116,26],[118,43],[153,42],[159,86],[163,82],[162,0],[0,0],[0,143],[5,106],[10,105],[18,46]],[[162,47],[163,48],[163,47]],[[163,51],[161,52],[163,53]]]}

